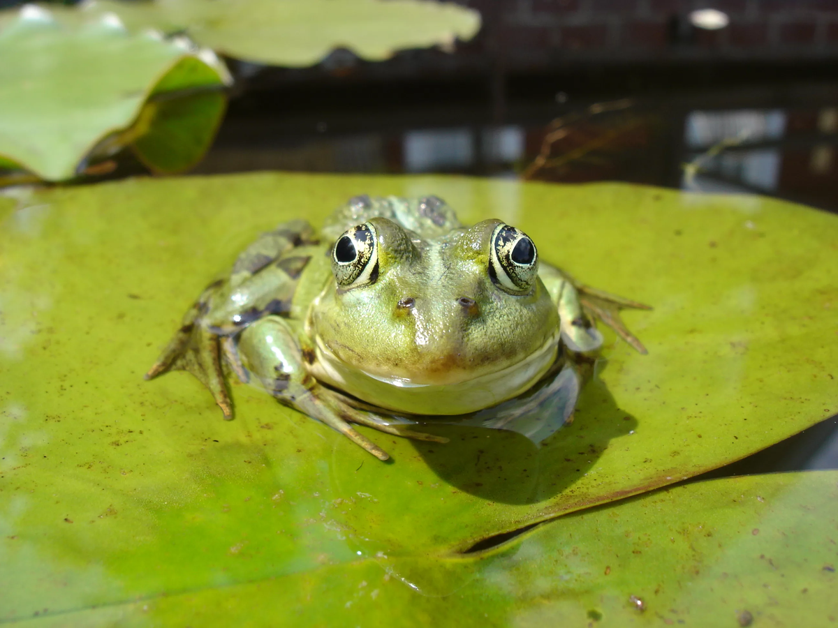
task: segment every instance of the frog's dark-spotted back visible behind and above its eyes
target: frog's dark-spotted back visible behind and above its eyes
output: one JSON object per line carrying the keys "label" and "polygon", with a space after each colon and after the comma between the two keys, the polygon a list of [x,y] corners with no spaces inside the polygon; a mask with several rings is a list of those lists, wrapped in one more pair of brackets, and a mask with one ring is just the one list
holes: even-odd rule
{"label": "frog's dark-spotted back visible behind and above its eyes", "polygon": [[372,218],[386,218],[415,232],[422,239],[439,238],[463,224],[448,204],[436,196],[399,198],[396,196],[355,196],[334,210],[323,224],[326,239],[338,239],[340,234],[356,224]]}

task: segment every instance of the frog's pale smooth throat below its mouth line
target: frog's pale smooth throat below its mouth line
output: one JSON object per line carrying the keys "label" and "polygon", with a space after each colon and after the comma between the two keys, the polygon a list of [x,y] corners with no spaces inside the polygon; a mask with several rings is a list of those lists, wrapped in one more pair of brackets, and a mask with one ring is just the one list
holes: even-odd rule
{"label": "frog's pale smooth throat below its mouth line", "polygon": [[559,334],[525,359],[494,373],[458,383],[412,383],[405,378],[381,377],[354,368],[318,338],[314,377],[380,408],[410,414],[466,414],[490,408],[523,393],[546,373],[556,359]]}

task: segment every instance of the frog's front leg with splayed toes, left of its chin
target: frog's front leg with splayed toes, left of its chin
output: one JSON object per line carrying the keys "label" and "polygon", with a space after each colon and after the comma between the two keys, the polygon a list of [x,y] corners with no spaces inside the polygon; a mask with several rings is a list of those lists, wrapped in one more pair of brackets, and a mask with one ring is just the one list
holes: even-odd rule
{"label": "frog's front leg with splayed toes, left of its chin", "polygon": [[239,337],[238,352],[242,364],[282,403],[322,421],[379,460],[387,460],[390,456],[354,430],[349,422],[417,440],[447,442],[447,439],[439,436],[385,425],[377,421],[375,415],[351,407],[308,373],[305,360],[313,357],[306,356],[313,354],[310,349],[303,351],[297,337],[300,337],[300,333],[296,323],[275,316],[253,323]]}

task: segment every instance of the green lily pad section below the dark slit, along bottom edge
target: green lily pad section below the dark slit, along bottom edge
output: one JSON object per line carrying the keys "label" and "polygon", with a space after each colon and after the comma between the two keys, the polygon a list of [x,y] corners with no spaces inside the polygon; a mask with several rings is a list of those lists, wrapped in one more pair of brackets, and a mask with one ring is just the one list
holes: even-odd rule
{"label": "green lily pad section below the dark slit, along bottom edge", "polygon": [[[488,553],[362,557],[126,600],[73,625],[829,625],[838,472],[678,486]],[[639,606],[642,605],[640,610]],[[64,625],[67,617],[36,625]]]}

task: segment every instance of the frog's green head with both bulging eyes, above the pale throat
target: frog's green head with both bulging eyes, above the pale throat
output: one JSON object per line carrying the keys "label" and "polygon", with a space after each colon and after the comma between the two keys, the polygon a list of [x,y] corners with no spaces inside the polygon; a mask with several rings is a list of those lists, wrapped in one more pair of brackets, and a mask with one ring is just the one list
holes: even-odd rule
{"label": "frog's green head with both bulging eyes, above the pale throat", "polygon": [[423,240],[370,219],[330,255],[334,284],[313,308],[311,331],[374,377],[462,383],[524,361],[556,332],[535,245],[499,220]]}

